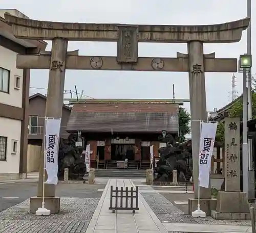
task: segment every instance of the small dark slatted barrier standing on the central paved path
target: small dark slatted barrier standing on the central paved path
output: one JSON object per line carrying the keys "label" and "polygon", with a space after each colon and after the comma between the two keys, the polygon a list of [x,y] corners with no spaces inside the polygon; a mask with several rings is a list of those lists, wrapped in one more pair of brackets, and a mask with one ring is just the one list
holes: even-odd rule
{"label": "small dark slatted barrier standing on the central paved path", "polygon": [[[120,193],[120,195],[118,195]],[[135,193],[135,196],[133,195]],[[115,205],[113,206],[113,199],[115,198]],[[123,198],[125,199],[125,203],[123,203]],[[134,199],[135,198],[135,206],[134,206]],[[138,200],[139,200],[139,187],[136,186],[136,190],[133,190],[133,187],[131,190],[126,187],[125,190],[123,190],[123,187],[121,187],[120,190],[118,190],[118,187],[116,187],[115,190],[113,190],[113,186],[110,187],[110,208],[109,210],[112,210],[112,213],[115,213],[115,210],[131,210],[133,213],[135,211],[139,210],[138,207]],[[120,202],[120,205],[118,206],[118,203]],[[130,205],[129,205],[130,202]]]}

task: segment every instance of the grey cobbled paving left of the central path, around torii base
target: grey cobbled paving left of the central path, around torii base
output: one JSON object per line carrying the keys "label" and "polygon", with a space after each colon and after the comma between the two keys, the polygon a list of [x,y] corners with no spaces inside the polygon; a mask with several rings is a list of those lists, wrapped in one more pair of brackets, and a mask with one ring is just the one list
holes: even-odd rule
{"label": "grey cobbled paving left of the central path, around torii base", "polygon": [[84,233],[99,198],[61,198],[60,213],[35,216],[29,199],[0,213],[1,233]]}

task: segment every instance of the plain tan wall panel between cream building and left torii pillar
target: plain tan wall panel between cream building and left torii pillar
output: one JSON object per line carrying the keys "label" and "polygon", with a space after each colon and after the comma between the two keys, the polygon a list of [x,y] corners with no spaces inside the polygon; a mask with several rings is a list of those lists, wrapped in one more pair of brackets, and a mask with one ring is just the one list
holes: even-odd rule
{"label": "plain tan wall panel between cream building and left torii pillar", "polygon": [[39,159],[42,147],[36,145],[28,145],[28,163],[27,172],[39,171]]}

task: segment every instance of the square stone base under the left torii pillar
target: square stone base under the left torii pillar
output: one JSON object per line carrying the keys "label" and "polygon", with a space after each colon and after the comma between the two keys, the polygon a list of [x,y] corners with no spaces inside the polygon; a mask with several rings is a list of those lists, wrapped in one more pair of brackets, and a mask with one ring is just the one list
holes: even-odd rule
{"label": "square stone base under the left torii pillar", "polygon": [[[30,213],[35,214],[38,208],[42,207],[42,197],[30,198]],[[60,209],[60,197],[45,197],[45,208],[51,214],[58,214]]]}

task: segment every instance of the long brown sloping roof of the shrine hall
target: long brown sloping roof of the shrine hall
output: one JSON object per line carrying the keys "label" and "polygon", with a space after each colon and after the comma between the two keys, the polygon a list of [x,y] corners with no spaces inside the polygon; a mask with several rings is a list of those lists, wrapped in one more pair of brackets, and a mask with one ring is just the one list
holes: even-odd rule
{"label": "long brown sloping roof of the shrine hall", "polygon": [[179,105],[146,102],[75,103],[67,131],[116,133],[179,131]]}

